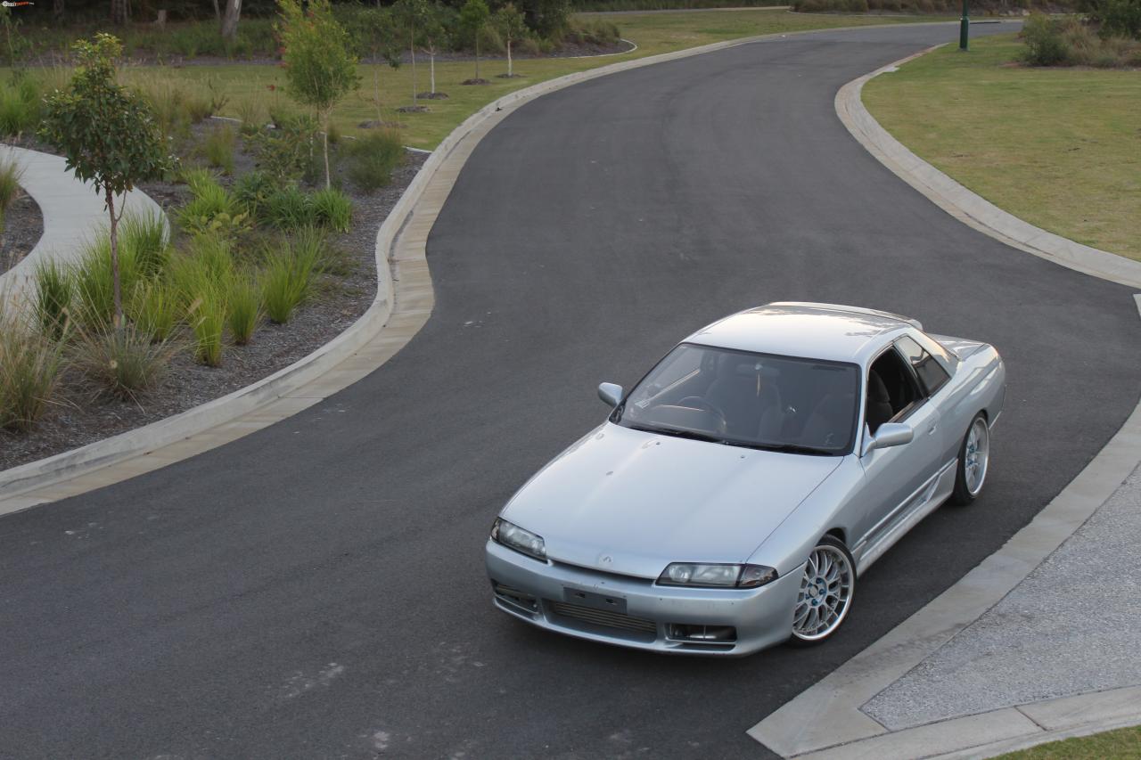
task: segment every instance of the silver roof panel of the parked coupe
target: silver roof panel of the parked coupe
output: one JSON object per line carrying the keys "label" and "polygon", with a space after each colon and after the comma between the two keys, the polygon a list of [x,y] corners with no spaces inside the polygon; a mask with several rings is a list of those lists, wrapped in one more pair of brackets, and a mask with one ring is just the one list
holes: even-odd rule
{"label": "silver roof panel of the parked coupe", "polygon": [[685,342],[863,364],[908,328],[921,330],[922,325],[898,314],[857,306],[782,301],[718,320]]}

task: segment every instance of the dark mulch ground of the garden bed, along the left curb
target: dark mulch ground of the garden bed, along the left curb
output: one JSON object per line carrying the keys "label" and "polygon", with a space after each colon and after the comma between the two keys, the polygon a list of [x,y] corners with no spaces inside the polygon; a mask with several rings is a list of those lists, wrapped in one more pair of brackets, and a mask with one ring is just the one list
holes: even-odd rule
{"label": "dark mulch ground of the garden bed, along the left curb", "polygon": [[[195,127],[195,134],[201,136],[215,126],[221,124],[208,120]],[[189,350],[179,351],[161,383],[135,402],[96,397],[95,388],[79,372],[70,372],[54,409],[31,434],[0,429],[0,470],[178,414],[273,374],[329,342],[372,304],[377,294],[377,229],[426,159],[426,154],[410,152],[404,165],[393,173],[391,184],[372,194],[356,191],[348,181],[342,184],[354,201],[353,226],[331,240],[351,262],[350,272],[325,275],[319,296],[301,306],[289,324],[264,323],[250,345],[227,346],[222,366],[217,369],[196,364]],[[235,152],[235,173],[252,164],[250,155]],[[189,196],[185,185],[152,183],[143,189],[168,209]]]}

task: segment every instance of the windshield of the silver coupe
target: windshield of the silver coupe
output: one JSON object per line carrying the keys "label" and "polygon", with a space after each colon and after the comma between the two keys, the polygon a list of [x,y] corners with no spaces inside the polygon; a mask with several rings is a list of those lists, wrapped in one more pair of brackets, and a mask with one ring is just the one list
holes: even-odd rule
{"label": "windshield of the silver coupe", "polygon": [[858,390],[855,364],[681,343],[610,419],[727,445],[845,454],[856,431]]}

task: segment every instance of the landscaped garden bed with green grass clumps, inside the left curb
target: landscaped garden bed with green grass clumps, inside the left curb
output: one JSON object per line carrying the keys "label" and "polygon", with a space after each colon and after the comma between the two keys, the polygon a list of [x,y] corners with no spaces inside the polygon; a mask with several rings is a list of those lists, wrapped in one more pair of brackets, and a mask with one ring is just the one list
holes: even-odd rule
{"label": "landscaped garden bed with green grass clumps, inside the left curb", "polygon": [[[41,99],[23,89],[37,122]],[[326,176],[311,118],[237,124],[186,92],[144,99],[180,159],[138,184],[169,234],[157,216],[119,221],[119,324],[107,229],[76,264],[38,268],[33,307],[2,312],[0,469],[245,387],[326,343],[375,297],[377,231],[423,154],[389,132],[333,135]],[[9,139],[51,149],[26,131]]]}

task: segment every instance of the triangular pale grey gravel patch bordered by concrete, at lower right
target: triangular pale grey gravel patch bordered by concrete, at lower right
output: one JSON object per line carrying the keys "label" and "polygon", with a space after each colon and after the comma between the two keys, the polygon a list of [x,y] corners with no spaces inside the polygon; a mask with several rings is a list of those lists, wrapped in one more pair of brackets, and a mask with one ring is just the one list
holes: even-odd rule
{"label": "triangular pale grey gravel patch bordered by concrete, at lower right", "polygon": [[1022,583],[863,710],[892,730],[1141,684],[1141,468]]}

